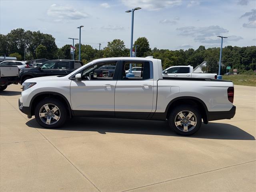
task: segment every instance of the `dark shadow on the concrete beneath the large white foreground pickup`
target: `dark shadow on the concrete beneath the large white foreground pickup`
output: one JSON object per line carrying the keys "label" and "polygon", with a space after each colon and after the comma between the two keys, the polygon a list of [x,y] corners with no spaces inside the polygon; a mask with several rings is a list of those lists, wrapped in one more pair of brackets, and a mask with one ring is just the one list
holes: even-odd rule
{"label": "dark shadow on the concrete beneath the large white foreground pickup", "polygon": [[[33,128],[42,128],[35,119],[26,122]],[[180,136],[170,129],[167,122],[153,120],[131,120],[114,118],[72,118],[61,128],[54,130],[95,131],[126,134],[148,134],[163,136]],[[227,140],[255,140],[254,136],[244,130],[226,123],[202,124],[192,138],[227,139]]]}

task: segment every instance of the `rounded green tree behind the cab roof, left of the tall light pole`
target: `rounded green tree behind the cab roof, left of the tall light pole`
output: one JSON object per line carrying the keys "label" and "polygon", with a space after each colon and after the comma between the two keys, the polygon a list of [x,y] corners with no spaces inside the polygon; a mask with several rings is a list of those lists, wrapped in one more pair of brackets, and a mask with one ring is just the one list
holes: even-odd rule
{"label": "rounded green tree behind the cab roof, left of the tall light pole", "polygon": [[127,56],[124,41],[120,39],[114,39],[112,42],[108,42],[103,50],[103,57],[122,57]]}

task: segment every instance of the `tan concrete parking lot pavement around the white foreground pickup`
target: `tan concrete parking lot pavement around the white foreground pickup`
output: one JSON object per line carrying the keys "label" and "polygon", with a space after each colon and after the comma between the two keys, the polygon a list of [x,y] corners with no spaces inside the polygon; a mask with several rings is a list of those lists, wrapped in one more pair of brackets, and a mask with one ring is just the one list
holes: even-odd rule
{"label": "tan concrete parking lot pavement around the white foreground pickup", "polygon": [[235,86],[236,116],[190,137],[166,122],[73,118],[44,129],[0,95],[0,190],[256,191],[256,88]]}

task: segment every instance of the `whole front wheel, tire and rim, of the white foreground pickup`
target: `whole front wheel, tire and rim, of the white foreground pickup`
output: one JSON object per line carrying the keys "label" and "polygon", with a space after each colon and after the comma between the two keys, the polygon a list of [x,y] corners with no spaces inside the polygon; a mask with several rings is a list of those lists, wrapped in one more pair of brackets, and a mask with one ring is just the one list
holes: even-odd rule
{"label": "whole front wheel, tire and rim, of the white foreground pickup", "polygon": [[62,126],[68,117],[66,106],[54,98],[40,101],[36,105],[34,114],[38,124],[45,128]]}

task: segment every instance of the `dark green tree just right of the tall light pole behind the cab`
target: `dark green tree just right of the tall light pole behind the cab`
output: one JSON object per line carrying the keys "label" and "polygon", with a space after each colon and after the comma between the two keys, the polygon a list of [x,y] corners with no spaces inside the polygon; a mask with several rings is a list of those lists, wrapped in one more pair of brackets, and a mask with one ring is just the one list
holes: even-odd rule
{"label": "dark green tree just right of the tall light pole behind the cab", "polygon": [[151,51],[150,47],[149,47],[148,39],[146,37],[139,37],[134,42],[134,50],[135,50],[135,45],[138,45],[137,50],[136,50],[136,56],[137,57],[147,56],[148,53]]}

